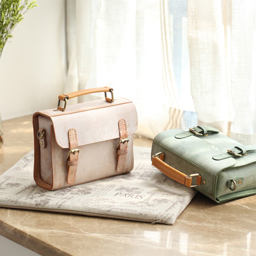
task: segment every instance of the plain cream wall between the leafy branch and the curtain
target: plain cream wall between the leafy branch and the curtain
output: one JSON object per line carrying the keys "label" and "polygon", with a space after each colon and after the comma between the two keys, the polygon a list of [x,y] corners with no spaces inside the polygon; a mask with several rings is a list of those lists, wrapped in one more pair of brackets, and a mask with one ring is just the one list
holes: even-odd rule
{"label": "plain cream wall between the leafy branch and the curtain", "polygon": [[65,1],[37,0],[0,58],[2,119],[55,108],[66,79]]}

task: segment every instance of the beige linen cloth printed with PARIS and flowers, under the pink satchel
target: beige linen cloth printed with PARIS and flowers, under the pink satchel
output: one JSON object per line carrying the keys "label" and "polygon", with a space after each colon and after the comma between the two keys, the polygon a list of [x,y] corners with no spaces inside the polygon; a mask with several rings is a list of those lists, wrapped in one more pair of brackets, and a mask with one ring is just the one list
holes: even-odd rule
{"label": "beige linen cloth printed with PARIS and flowers, under the pink satchel", "polygon": [[134,147],[132,172],[48,191],[33,179],[32,150],[0,176],[0,206],[172,225],[196,190],[158,171],[150,152]]}

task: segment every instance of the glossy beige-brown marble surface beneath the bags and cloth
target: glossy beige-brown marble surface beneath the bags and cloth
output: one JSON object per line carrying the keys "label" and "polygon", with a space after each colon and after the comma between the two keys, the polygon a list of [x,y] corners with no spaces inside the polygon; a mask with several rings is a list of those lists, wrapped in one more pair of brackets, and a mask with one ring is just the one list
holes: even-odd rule
{"label": "glossy beige-brown marble surface beneath the bags and cloth", "polygon": [[[31,116],[3,126],[0,173],[34,146]],[[0,221],[1,235],[41,255],[256,255],[256,196],[216,204],[198,193],[173,226],[7,208]]]}

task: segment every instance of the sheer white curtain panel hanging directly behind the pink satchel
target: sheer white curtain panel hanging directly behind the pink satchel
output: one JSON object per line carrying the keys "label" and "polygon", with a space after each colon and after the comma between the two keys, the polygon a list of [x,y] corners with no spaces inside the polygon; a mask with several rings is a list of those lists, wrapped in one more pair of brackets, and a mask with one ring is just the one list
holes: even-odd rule
{"label": "sheer white curtain panel hanging directly behind the pink satchel", "polygon": [[168,1],[67,1],[65,91],[113,87],[135,103],[141,136],[180,127],[169,22]]}

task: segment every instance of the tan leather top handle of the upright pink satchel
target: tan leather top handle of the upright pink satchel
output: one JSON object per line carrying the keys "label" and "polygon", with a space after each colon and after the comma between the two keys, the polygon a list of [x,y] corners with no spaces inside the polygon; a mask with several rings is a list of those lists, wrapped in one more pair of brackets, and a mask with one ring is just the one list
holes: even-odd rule
{"label": "tan leather top handle of the upright pink satchel", "polygon": [[[65,109],[67,107],[67,100],[78,97],[78,96],[86,95],[86,94],[96,93],[96,92],[105,92],[105,100],[108,102],[114,101],[114,95],[113,95],[112,88],[107,87],[107,86],[99,87],[99,88],[90,88],[90,89],[85,89],[85,90],[76,91],[76,92],[69,92],[69,93],[59,95],[59,102],[58,102],[57,109],[60,111],[65,111]],[[107,97],[107,92],[111,92],[111,98]],[[65,102],[64,107],[60,107],[60,100],[63,100]]]}

